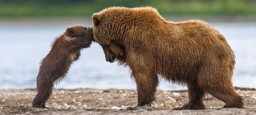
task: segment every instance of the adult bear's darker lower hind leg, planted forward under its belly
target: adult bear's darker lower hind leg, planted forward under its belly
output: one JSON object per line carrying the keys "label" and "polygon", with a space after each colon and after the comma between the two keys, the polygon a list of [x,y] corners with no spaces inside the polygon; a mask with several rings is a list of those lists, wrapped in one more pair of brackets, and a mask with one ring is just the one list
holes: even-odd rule
{"label": "adult bear's darker lower hind leg, planted forward under its belly", "polygon": [[205,97],[205,90],[200,88],[197,84],[187,84],[188,85],[188,103],[179,108],[174,108],[173,110],[201,110],[205,109],[203,104],[203,99]]}

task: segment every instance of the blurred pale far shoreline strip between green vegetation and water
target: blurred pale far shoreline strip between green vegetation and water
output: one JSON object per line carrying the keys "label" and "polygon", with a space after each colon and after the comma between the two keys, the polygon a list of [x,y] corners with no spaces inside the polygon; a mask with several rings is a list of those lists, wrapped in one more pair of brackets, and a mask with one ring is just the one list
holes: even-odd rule
{"label": "blurred pale far shoreline strip between green vegetation and water", "polygon": [[[181,22],[187,20],[203,20],[208,23],[256,23],[256,15],[163,15],[167,21]],[[25,16],[25,17],[0,17],[0,25],[10,24],[57,24],[63,23],[90,23],[91,16]]]}

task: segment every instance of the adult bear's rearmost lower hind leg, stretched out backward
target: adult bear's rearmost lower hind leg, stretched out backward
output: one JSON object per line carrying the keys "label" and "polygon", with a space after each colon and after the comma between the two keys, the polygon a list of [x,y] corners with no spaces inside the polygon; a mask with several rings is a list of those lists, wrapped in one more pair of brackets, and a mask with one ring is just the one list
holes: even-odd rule
{"label": "adult bear's rearmost lower hind leg, stretched out backward", "polygon": [[217,99],[225,102],[226,105],[224,105],[224,108],[243,108],[244,103],[242,96],[238,95],[232,86],[226,89],[227,90],[225,92],[218,89],[209,89],[207,92]]}

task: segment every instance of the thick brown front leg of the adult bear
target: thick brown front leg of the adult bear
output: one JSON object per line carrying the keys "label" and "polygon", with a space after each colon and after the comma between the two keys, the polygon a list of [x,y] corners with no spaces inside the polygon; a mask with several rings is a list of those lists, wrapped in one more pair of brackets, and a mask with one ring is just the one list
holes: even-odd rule
{"label": "thick brown front leg of the adult bear", "polygon": [[[145,70],[145,69],[144,69]],[[157,75],[142,68],[132,70],[131,74],[137,84],[138,106],[151,105],[155,101],[155,92],[159,84]]]}

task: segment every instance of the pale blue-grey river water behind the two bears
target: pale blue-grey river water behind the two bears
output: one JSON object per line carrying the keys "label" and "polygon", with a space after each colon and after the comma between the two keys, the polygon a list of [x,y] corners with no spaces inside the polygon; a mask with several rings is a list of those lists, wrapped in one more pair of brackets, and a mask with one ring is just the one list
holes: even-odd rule
{"label": "pale blue-grey river water behind the two bears", "polygon": [[[70,25],[91,27],[91,21],[0,22],[0,89],[35,88],[40,61],[50,51],[54,38]],[[210,23],[219,30],[236,55],[233,84],[256,87],[256,23]],[[68,75],[55,88],[136,89],[129,69],[106,62],[97,43],[81,52]],[[187,89],[161,80],[158,89]]]}

